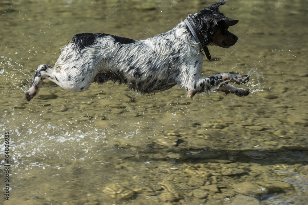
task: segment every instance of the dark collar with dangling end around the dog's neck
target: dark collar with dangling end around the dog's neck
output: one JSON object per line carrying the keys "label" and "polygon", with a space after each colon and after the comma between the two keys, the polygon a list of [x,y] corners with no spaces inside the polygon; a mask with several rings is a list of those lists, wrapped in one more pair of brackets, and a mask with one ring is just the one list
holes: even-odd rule
{"label": "dark collar with dangling end around the dog's neck", "polygon": [[203,49],[206,57],[211,60],[211,54],[209,52],[208,47],[204,44],[204,38],[202,37],[202,34],[200,33],[199,29],[197,28],[195,22],[193,22],[193,15],[189,14],[189,16],[184,20],[184,22],[187,24],[188,29],[193,34],[193,37],[197,41],[197,44],[200,47],[200,50]]}

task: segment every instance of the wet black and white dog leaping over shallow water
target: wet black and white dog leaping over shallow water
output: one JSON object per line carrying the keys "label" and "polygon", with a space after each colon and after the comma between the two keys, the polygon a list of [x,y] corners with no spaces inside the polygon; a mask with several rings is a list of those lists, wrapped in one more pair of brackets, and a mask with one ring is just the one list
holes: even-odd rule
{"label": "wet black and white dog leaping over shallow water", "polygon": [[223,4],[225,0],[189,15],[164,34],[144,40],[109,34],[77,34],[62,49],[55,67],[39,65],[26,92],[26,100],[39,93],[45,79],[72,92],[86,91],[92,82],[112,80],[141,94],[180,85],[190,98],[216,91],[246,96],[249,90],[233,87],[228,82],[244,84],[249,81],[247,75],[201,76],[204,58],[201,49],[210,59],[208,45],[229,48],[237,41],[228,28],[238,21],[218,11]]}

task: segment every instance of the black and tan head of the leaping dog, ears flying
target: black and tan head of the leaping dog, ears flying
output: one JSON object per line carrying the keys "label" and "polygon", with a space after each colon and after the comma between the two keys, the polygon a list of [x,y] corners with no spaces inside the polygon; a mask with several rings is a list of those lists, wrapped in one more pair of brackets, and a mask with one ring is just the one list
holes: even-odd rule
{"label": "black and tan head of the leaping dog, ears flying", "polygon": [[217,45],[229,48],[237,41],[237,36],[228,31],[229,26],[235,25],[238,20],[225,17],[219,12],[219,6],[225,4],[225,0],[212,4],[203,10],[193,14],[194,22],[204,37],[206,45]]}

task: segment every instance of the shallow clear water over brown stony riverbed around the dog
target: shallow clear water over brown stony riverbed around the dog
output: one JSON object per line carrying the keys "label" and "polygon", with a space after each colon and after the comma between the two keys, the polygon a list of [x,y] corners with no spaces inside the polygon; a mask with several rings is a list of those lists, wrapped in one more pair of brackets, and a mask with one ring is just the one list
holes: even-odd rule
{"label": "shallow clear water over brown stony riverbed around the dog", "polygon": [[[250,75],[247,97],[187,98],[172,88],[140,96],[91,85],[70,93],[44,81],[78,33],[143,39],[211,1],[0,0],[1,169],[10,204],[306,204],[307,1],[227,1],[240,20],[229,49],[210,47],[203,76]],[[9,160],[5,161],[5,132]],[[0,173],[4,180],[6,173]]]}

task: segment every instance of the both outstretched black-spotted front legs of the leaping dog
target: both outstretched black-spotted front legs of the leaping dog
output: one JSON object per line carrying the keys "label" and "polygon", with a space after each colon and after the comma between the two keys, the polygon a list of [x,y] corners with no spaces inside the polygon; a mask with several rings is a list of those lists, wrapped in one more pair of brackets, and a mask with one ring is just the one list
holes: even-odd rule
{"label": "both outstretched black-spotted front legs of the leaping dog", "polygon": [[219,73],[210,77],[200,78],[194,89],[188,90],[188,96],[192,98],[195,94],[225,92],[226,94],[234,93],[237,96],[246,96],[249,94],[248,89],[236,88],[228,85],[229,82],[236,84],[245,84],[249,81],[248,75],[233,75],[230,73]]}

